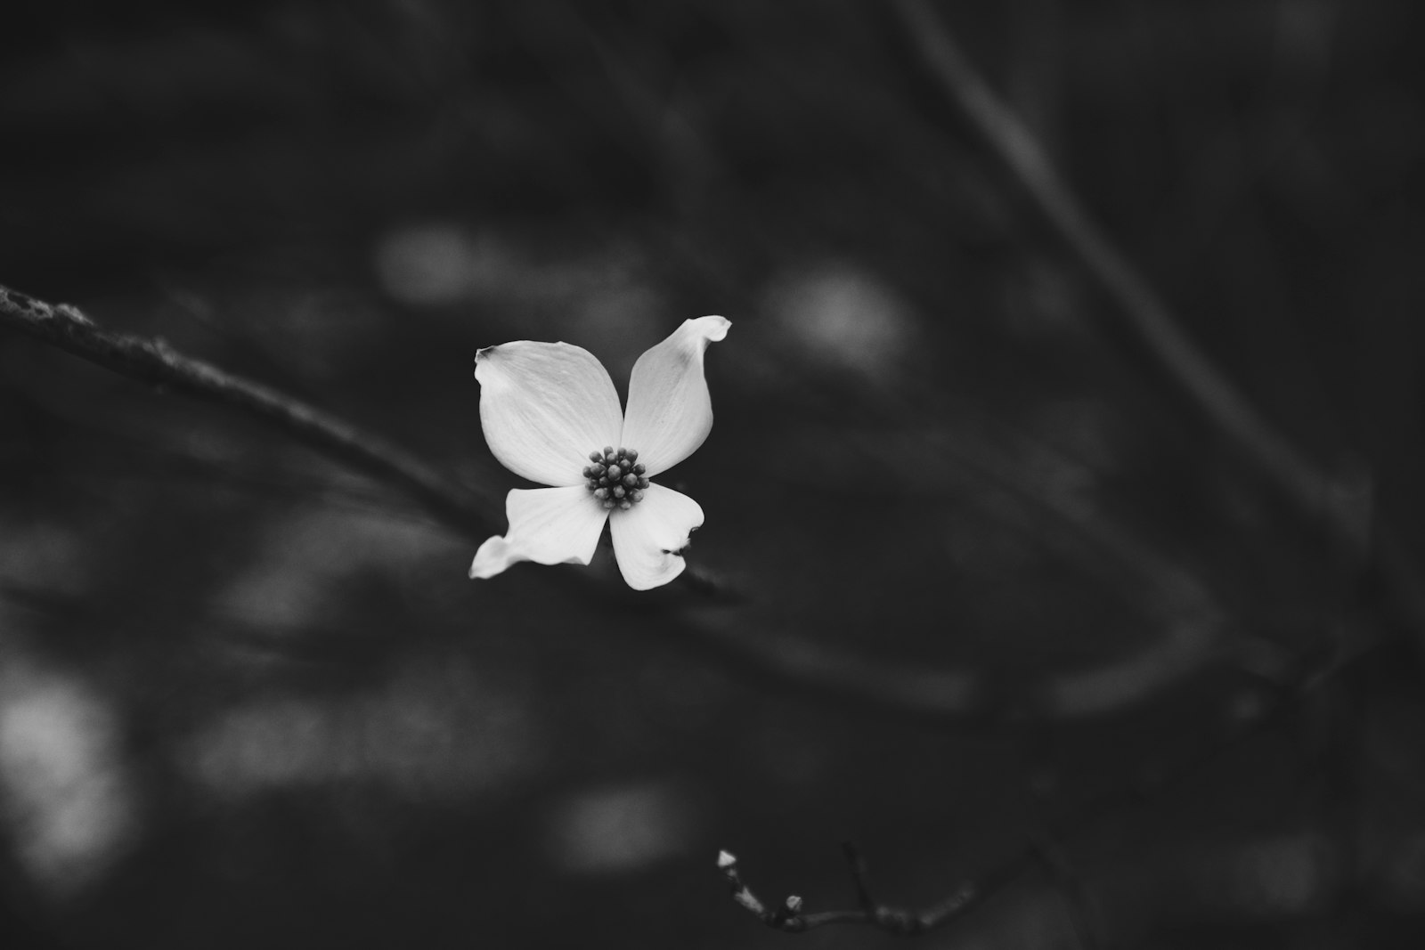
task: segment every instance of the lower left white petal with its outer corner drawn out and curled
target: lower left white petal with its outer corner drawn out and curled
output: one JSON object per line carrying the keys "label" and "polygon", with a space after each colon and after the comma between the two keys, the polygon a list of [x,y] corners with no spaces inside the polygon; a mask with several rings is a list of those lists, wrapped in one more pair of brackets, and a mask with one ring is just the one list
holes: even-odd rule
{"label": "lower left white petal with its outer corner drawn out and curled", "polygon": [[608,511],[584,486],[510,489],[504,499],[510,530],[475,553],[470,577],[494,577],[517,561],[589,564]]}

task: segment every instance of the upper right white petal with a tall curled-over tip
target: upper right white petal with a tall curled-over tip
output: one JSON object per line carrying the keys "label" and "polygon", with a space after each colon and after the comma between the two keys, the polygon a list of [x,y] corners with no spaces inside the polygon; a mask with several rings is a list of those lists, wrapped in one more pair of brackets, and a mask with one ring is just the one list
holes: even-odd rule
{"label": "upper right white petal with a tall curled-over tip", "polygon": [[618,442],[638,450],[638,461],[650,476],[691,456],[712,430],[703,353],[708,343],[727,336],[731,325],[721,316],[684,320],[633,365],[628,412]]}

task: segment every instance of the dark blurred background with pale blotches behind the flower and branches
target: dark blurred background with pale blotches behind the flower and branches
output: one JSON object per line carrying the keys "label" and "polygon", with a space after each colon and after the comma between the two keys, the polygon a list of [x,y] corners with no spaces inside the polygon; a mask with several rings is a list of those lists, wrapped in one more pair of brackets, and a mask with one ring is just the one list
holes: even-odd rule
{"label": "dark blurred background with pale blotches behind the flower and branches", "polygon": [[[1418,547],[1419,4],[938,9],[1322,497]],[[722,313],[670,483],[742,593],[470,583],[399,493],[0,333],[4,946],[884,946],[762,929],[717,850],[817,910],[855,904],[849,839],[928,903],[1322,655],[1354,659],[919,946],[1419,946],[1419,631],[1112,329],[888,7],[4,19],[0,282],[492,499],[476,348],[570,340],[623,386]],[[681,610],[943,672],[953,709],[768,675]]]}

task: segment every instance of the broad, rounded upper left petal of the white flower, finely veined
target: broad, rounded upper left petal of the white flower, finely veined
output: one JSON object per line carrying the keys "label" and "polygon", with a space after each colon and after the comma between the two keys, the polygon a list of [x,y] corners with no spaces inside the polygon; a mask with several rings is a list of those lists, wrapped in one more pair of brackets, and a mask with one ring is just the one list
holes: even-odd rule
{"label": "broad, rounded upper left petal of the white flower, finely veined", "polygon": [[569,343],[517,340],[475,355],[490,451],[530,481],[581,484],[590,451],[618,442],[623,413],[608,372]]}

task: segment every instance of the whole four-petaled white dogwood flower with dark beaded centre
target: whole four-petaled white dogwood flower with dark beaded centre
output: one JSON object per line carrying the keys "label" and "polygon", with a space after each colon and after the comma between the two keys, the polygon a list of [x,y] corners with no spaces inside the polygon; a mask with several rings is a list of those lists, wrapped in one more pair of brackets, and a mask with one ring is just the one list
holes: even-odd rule
{"label": "whole four-petaled white dogwood flower with dark beaded centre", "polygon": [[494,577],[516,561],[589,564],[610,523],[614,557],[628,587],[667,584],[703,524],[703,508],[648,479],[678,464],[712,430],[703,377],[708,343],[728,320],[684,320],[633,366],[628,412],[593,353],[569,343],[519,340],[475,356],[480,424],[500,463],[550,489],[512,489],[504,537],[475,554],[470,577]]}

